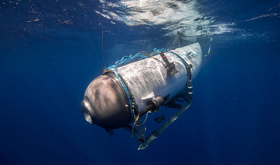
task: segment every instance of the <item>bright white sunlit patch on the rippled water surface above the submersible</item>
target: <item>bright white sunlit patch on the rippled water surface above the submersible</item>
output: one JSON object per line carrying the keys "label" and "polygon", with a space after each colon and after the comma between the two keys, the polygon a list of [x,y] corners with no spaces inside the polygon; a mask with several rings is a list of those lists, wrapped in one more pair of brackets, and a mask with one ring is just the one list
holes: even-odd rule
{"label": "bright white sunlit patch on the rippled water surface above the submersible", "polygon": [[[99,1],[102,3],[102,12],[96,13],[105,18],[121,21],[129,26],[162,25],[166,36],[177,36],[178,30],[183,39],[238,30],[231,27],[235,24],[217,24],[214,17],[205,16],[201,13],[200,9],[203,7],[197,0],[121,0],[118,3]],[[117,10],[114,10],[115,8]]]}

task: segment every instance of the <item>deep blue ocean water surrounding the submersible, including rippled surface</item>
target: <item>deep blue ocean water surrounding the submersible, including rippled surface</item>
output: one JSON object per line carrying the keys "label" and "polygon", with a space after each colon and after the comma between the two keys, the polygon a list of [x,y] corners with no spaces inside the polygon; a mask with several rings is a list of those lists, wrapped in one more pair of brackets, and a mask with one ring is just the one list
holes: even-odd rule
{"label": "deep blue ocean water surrounding the submersible, including rippled surface", "polygon": [[[0,164],[280,164],[280,1],[2,0],[0,16]],[[211,45],[192,105],[144,150],[81,115],[102,31],[106,67],[177,31]]]}

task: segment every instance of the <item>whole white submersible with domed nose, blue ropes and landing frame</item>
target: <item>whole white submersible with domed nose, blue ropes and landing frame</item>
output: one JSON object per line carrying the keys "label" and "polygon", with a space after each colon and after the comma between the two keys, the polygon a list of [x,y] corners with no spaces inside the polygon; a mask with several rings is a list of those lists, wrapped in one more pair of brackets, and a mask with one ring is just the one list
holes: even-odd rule
{"label": "whole white submersible with domed nose, blue ropes and landing frame", "polygon": [[[144,149],[191,104],[192,79],[198,74],[201,61],[198,42],[170,51],[125,56],[102,70],[102,75],[88,85],[81,103],[82,115],[107,132],[123,127],[137,136],[139,148]],[[179,97],[187,106],[176,103]],[[177,114],[145,137],[140,117],[163,105],[178,109]]]}

